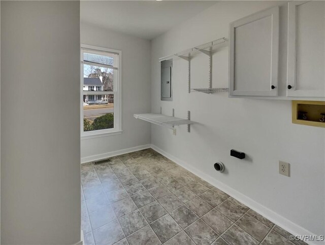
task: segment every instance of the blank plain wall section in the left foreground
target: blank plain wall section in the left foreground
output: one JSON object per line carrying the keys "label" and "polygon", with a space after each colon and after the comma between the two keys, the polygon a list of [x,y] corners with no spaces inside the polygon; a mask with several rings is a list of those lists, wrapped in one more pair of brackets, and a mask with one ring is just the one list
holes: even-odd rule
{"label": "blank plain wall section in the left foreground", "polygon": [[79,1],[1,1],[2,244],[80,241],[79,43]]}

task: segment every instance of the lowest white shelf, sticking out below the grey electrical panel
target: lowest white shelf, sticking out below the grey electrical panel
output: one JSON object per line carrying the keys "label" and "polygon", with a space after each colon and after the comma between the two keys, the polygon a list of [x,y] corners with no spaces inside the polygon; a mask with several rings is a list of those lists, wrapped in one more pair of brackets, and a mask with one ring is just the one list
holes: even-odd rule
{"label": "lowest white shelf, sticking out below the grey electrical panel", "polygon": [[172,129],[174,129],[175,126],[190,125],[195,123],[187,119],[171,117],[157,113],[134,114],[133,116],[137,119],[141,119],[159,126],[165,126]]}

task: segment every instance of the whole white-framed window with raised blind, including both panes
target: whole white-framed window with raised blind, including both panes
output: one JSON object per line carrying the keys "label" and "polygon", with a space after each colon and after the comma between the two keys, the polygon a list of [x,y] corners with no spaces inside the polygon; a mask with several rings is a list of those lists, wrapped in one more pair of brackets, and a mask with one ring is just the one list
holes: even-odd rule
{"label": "whole white-framed window with raised blind, including both panes", "polygon": [[121,132],[121,51],[81,47],[81,136]]}

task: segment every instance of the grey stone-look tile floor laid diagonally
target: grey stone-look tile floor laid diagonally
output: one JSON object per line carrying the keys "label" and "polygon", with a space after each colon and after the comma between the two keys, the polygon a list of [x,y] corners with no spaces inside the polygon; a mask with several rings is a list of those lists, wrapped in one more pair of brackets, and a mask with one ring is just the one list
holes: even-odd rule
{"label": "grey stone-look tile floor laid diagonally", "polygon": [[289,232],[152,149],[83,164],[81,183],[86,245],[294,244]]}

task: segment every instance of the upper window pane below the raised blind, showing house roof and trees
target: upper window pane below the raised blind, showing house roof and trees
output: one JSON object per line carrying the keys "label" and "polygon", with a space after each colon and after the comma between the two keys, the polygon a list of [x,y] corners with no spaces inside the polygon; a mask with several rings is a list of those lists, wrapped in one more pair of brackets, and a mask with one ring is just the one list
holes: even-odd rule
{"label": "upper window pane below the raised blind, showing house roof and trees", "polygon": [[83,91],[113,91],[113,69],[84,64],[83,77]]}

